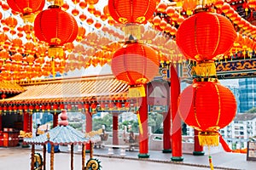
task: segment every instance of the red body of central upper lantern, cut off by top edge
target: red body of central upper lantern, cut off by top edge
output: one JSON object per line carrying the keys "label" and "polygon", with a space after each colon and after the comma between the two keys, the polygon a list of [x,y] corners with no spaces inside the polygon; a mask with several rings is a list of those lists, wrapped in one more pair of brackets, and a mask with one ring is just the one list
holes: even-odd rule
{"label": "red body of central upper lantern, cut off by top edge", "polygon": [[152,17],[156,0],[109,0],[108,10],[113,20],[125,23],[142,24]]}

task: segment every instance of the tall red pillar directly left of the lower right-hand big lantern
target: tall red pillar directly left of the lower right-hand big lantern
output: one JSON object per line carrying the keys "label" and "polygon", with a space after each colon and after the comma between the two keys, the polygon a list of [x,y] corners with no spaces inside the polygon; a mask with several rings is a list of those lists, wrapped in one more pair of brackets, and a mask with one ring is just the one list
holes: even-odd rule
{"label": "tall red pillar directly left of the lower right-hand big lantern", "polygon": [[177,99],[180,94],[180,83],[177,71],[171,65],[171,109],[172,109],[172,161],[183,161],[181,118],[177,113]]}

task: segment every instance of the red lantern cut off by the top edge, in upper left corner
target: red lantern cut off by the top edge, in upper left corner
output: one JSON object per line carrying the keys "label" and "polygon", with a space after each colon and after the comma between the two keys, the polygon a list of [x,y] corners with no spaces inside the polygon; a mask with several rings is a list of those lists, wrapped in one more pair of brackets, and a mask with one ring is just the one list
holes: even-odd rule
{"label": "red lantern cut off by the top edge, in upper left corner", "polygon": [[20,13],[23,20],[33,22],[35,15],[44,8],[45,0],[7,0],[9,7]]}

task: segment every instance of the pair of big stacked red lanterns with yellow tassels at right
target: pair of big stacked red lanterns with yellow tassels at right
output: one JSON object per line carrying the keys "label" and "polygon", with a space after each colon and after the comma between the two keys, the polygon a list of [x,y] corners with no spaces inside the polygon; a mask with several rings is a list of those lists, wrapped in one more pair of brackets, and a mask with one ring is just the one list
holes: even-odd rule
{"label": "pair of big stacked red lanterns with yellow tassels at right", "polygon": [[[199,131],[201,146],[217,146],[218,130],[236,116],[236,99],[218,82],[214,60],[232,48],[236,31],[224,15],[204,9],[183,21],[176,40],[185,57],[196,61],[193,83],[180,94],[178,112]],[[213,169],[210,153],[209,162]]]}

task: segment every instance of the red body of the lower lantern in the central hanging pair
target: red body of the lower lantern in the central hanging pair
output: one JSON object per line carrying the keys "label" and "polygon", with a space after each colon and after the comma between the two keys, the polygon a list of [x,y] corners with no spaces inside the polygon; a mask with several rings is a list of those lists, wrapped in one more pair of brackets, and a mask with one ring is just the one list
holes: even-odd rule
{"label": "red body of the lower lantern in the central hanging pair", "polygon": [[114,54],[111,63],[113,75],[130,85],[151,81],[159,71],[156,51],[138,42],[126,43]]}

